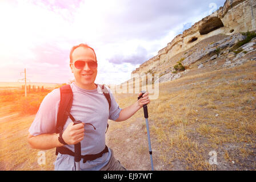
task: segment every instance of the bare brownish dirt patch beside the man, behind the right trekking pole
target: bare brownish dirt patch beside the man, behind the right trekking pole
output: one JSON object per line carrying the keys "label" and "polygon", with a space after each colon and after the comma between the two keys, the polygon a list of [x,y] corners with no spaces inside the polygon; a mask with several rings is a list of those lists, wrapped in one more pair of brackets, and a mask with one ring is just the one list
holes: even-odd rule
{"label": "bare brownish dirt patch beside the man, behind the right trekking pole", "polygon": [[[151,123],[149,119],[149,123]],[[128,170],[151,170],[149,144],[147,140],[146,121],[144,117],[129,121],[122,128],[111,130],[113,125],[122,125],[110,121],[107,133],[107,146],[113,149],[114,156]],[[121,127],[121,126],[119,126]],[[157,138],[151,134],[151,149],[155,170],[163,170],[164,164],[159,160],[160,152],[156,150]]]}

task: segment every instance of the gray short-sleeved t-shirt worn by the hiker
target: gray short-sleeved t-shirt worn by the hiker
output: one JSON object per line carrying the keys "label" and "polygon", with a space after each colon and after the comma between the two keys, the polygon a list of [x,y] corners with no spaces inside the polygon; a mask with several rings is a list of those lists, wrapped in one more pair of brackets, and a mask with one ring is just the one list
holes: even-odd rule
{"label": "gray short-sleeved t-shirt worn by the hiker", "polygon": [[[85,137],[81,141],[81,154],[98,154],[105,148],[105,132],[107,127],[108,119],[115,121],[119,117],[119,113],[122,110],[117,102],[115,101],[113,94],[109,88],[111,107],[109,109],[109,103],[106,97],[102,93],[99,85],[97,89],[86,90],[79,88],[73,82],[70,84],[73,90],[73,105],[70,110],[70,114],[76,120],[80,120],[85,123],[91,123],[93,126],[85,125]],[[30,126],[29,133],[33,136],[55,133],[57,115],[60,102],[59,89],[54,89],[52,92],[47,94],[43,99],[35,119]],[[63,130],[66,129],[67,125],[73,122],[70,118],[67,119]],[[71,151],[74,151],[74,145],[66,145]],[[109,162],[109,152],[103,154],[101,158],[80,162],[80,167],[83,170],[99,170]],[[74,157],[70,155],[58,154],[57,159],[54,163],[55,170],[74,170]]]}

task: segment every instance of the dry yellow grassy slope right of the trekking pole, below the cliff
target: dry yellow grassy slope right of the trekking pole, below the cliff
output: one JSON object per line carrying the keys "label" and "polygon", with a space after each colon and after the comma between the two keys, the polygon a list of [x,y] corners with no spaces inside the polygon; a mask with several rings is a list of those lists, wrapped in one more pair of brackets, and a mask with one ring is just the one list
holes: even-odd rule
{"label": "dry yellow grassy slope right of the trekking pole, below the cliff", "polygon": [[[159,169],[223,170],[225,165],[231,170],[255,169],[251,160],[255,160],[256,150],[256,84],[245,81],[256,80],[251,64],[159,85],[158,100],[151,100],[148,106],[150,131],[159,151],[155,158],[167,166]],[[138,113],[136,117],[143,115]],[[229,148],[234,144],[239,149]],[[210,151],[217,152],[218,165],[209,164]]]}

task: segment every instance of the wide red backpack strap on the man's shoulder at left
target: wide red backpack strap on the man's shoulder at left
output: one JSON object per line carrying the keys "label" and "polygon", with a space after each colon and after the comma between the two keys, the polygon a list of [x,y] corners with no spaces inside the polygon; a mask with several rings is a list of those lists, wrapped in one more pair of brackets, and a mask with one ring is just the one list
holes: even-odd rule
{"label": "wide red backpack strap on the man's shoulder at left", "polygon": [[72,102],[73,102],[73,92],[70,85],[63,85],[59,88],[61,92],[61,101],[59,102],[59,110],[57,115],[57,126],[56,126],[56,133],[62,131],[65,122],[69,115],[66,113],[70,112]]}

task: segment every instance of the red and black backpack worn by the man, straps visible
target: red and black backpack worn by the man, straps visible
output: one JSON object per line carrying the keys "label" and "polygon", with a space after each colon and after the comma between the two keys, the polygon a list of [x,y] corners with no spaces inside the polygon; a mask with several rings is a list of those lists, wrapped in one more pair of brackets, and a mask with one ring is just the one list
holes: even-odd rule
{"label": "red and black backpack worn by the man, straps visible", "polygon": [[[96,84],[98,86],[98,84]],[[99,85],[104,96],[109,102],[109,109],[111,107],[111,98],[109,91],[106,89],[104,85]],[[73,92],[69,84],[61,86],[59,88],[61,92],[61,101],[59,102],[59,110],[57,115],[57,126],[55,133],[60,133],[63,130],[63,126],[65,125],[67,118],[70,117],[70,109],[73,103]],[[72,116],[70,117],[72,120],[74,119]],[[107,129],[109,128],[109,123],[107,123]],[[106,129],[106,132],[107,132]],[[58,147],[56,148],[56,155],[58,154]]]}

